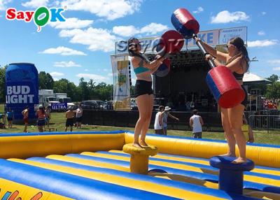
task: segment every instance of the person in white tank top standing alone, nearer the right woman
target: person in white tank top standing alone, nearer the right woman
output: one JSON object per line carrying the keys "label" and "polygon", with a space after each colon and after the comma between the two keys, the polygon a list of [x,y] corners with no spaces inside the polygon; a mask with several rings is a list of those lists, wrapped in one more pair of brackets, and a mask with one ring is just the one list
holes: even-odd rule
{"label": "person in white tank top standing alone, nearer the right woman", "polygon": [[193,116],[190,117],[190,127],[193,128],[193,138],[202,138],[202,126],[204,124],[202,117],[197,115],[198,110],[193,110]]}

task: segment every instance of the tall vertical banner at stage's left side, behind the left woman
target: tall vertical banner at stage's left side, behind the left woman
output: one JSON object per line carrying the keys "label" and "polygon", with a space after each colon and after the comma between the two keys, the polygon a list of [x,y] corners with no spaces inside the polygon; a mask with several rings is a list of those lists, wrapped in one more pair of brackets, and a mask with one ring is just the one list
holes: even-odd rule
{"label": "tall vertical banner at stage's left side, behind the left woman", "polygon": [[113,109],[130,110],[130,61],[127,55],[111,55]]}

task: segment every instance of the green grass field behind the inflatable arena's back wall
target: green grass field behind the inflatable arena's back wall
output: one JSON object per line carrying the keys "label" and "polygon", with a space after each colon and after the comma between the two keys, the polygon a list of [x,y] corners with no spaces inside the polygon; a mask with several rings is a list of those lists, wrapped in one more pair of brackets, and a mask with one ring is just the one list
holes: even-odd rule
{"label": "green grass field behind the inflatable arena's back wall", "polygon": [[[3,112],[3,104],[0,104],[0,113]],[[65,123],[65,114],[64,113],[52,113],[52,119],[50,120],[50,127],[54,127],[57,131],[64,131]],[[12,129],[0,129],[0,133],[21,133],[24,129],[23,125],[13,125]],[[130,127],[104,127],[104,126],[95,126],[84,124],[82,129],[76,129],[73,127],[73,131],[114,131],[114,130],[129,130],[134,131],[134,128]],[[36,124],[30,124],[28,127],[29,132],[38,132]],[[149,129],[149,133],[154,133],[153,129]],[[255,136],[255,143],[265,143],[265,144],[274,144],[280,145],[280,131],[253,131]],[[191,131],[176,131],[168,130],[168,135],[170,136],[186,136],[191,137]],[[211,138],[224,140],[225,137],[221,132],[203,132],[203,138]]]}

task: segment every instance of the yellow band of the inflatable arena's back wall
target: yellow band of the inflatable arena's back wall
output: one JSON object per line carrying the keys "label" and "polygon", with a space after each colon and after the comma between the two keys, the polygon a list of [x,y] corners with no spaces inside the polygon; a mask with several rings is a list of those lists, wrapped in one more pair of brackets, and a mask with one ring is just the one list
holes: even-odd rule
{"label": "yellow band of the inflatable arena's back wall", "polygon": [[[122,150],[123,145],[132,143],[133,134],[55,134],[1,136],[0,158],[44,157],[78,152],[100,150]],[[200,141],[188,138],[146,136],[149,145],[158,147],[158,152],[171,155],[207,158],[221,155],[228,149],[227,143]],[[237,148],[238,149],[238,148]],[[280,149],[257,145],[247,145],[247,157],[256,165],[280,167]],[[238,152],[237,152],[238,155]]]}

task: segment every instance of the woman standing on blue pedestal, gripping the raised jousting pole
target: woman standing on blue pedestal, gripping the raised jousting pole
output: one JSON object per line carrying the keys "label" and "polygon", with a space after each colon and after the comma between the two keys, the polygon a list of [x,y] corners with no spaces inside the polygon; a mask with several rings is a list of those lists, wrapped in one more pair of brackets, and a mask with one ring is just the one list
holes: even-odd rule
{"label": "woman standing on blue pedestal, gripping the raised jousting pole", "polygon": [[[196,38],[196,40],[200,40]],[[210,55],[206,56],[206,59],[212,59],[216,66],[221,65],[221,62],[225,62],[225,66],[232,71],[233,75],[237,79],[238,83],[243,88],[246,97],[239,105],[234,108],[222,108],[221,117],[223,129],[225,130],[225,137],[228,141],[228,153],[223,156],[235,157],[235,143],[239,148],[239,157],[232,163],[241,164],[246,162],[246,139],[241,130],[243,125],[243,113],[247,104],[247,92],[243,86],[243,76],[248,71],[250,59],[244,41],[237,37],[231,38],[228,41],[228,53],[223,53],[211,48],[211,46],[203,43],[204,48]],[[217,59],[216,59],[217,58]],[[221,61],[221,62],[220,62]],[[225,80],[226,81],[226,80]]]}

